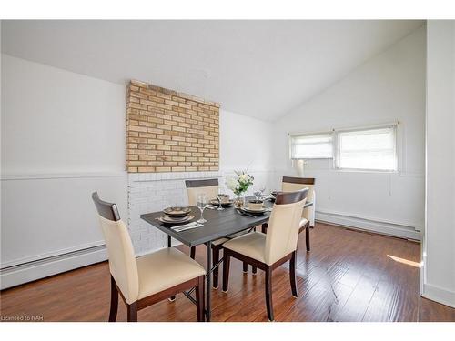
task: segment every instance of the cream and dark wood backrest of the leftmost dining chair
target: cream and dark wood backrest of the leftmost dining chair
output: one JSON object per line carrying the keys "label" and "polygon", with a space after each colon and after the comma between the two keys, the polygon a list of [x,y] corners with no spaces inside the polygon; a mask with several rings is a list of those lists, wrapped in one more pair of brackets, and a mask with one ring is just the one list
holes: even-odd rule
{"label": "cream and dark wood backrest of the leftmost dining chair", "polygon": [[109,269],[128,304],[139,295],[139,276],[136,257],[125,223],[120,219],[116,204],[107,203],[92,194],[98,212],[103,236],[105,236]]}

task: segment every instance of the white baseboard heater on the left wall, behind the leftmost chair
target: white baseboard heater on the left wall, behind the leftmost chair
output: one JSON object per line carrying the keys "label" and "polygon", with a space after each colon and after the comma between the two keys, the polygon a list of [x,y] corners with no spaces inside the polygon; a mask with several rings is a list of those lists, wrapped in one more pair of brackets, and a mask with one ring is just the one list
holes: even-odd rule
{"label": "white baseboard heater on the left wall, behind the leftmost chair", "polygon": [[105,261],[106,246],[94,246],[64,255],[51,256],[0,270],[0,289],[18,286],[36,279],[60,274],[77,267]]}

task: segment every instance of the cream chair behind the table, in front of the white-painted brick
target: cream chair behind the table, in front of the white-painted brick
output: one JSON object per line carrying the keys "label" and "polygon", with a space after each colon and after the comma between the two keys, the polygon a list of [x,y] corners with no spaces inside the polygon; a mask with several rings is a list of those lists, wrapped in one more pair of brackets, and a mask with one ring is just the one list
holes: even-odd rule
{"label": "cream chair behind the table, in front of the white-painted brick", "polygon": [[[189,206],[196,206],[197,204],[197,195],[198,194],[205,194],[207,195],[207,199],[214,199],[218,195],[218,179],[200,179],[200,180],[186,180],[185,185],[187,186],[187,196],[188,196],[188,205]],[[227,242],[229,238],[233,238],[236,236],[241,236],[245,232],[239,232],[235,235],[228,236],[227,238],[219,238],[212,242],[212,260],[213,264],[217,264],[219,262],[219,253],[223,248],[223,243]],[[191,258],[195,258],[196,256],[196,246],[191,247],[190,250]],[[247,272],[247,264],[244,263],[243,271]],[[218,266],[213,270],[213,287],[218,287]]]}

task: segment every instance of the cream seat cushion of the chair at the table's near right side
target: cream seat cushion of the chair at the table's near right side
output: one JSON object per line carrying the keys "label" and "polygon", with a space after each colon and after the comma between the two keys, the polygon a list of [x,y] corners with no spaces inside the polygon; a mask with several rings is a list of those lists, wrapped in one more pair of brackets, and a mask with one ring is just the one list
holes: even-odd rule
{"label": "cream seat cushion of the chair at the table's near right side", "polygon": [[251,232],[227,241],[224,248],[235,251],[238,254],[266,263],[266,235],[262,232]]}

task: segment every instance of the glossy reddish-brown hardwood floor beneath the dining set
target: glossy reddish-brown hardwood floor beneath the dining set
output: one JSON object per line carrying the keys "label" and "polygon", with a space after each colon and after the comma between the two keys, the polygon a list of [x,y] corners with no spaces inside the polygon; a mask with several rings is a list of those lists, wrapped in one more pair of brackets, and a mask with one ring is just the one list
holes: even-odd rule
{"label": "glossy reddish-brown hardwood floor beneath the dining set", "polygon": [[[187,247],[182,246],[186,252]],[[197,261],[205,264],[205,249]],[[455,309],[419,296],[420,245],[337,226],[317,224],[311,251],[298,242],[298,298],[291,296],[288,268],[273,273],[276,321],[455,321]],[[264,274],[242,272],[231,260],[229,291],[212,289],[212,321],[267,321]],[[42,316],[44,321],[107,321],[107,263],[86,266],[0,293],[2,319]],[[196,321],[196,306],[183,295],[138,313],[139,321]],[[119,304],[117,321],[126,321]]]}

